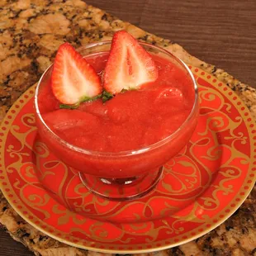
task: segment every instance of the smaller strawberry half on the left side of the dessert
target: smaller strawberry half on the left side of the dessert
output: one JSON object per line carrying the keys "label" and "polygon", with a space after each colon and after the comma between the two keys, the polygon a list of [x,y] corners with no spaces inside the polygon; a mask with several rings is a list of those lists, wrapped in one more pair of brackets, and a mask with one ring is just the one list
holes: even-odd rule
{"label": "smaller strawberry half on the left side of the dessert", "polygon": [[64,104],[83,102],[102,92],[101,78],[69,43],[59,46],[51,79],[55,97]]}

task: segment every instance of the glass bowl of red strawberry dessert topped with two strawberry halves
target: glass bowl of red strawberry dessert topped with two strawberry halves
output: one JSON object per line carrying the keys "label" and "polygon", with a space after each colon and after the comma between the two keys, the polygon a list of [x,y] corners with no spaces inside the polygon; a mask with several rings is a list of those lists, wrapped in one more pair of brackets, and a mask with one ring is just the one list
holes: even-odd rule
{"label": "glass bowl of red strawberry dessert topped with two strawberry halves", "polygon": [[40,79],[40,137],[92,192],[121,200],[144,195],[197,126],[197,84],[179,59],[126,31],[80,52],[60,45]]}

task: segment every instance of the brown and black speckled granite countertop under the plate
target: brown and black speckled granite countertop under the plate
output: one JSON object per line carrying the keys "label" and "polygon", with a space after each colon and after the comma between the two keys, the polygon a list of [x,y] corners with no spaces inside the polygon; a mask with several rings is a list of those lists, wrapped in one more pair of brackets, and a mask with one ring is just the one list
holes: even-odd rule
{"label": "brown and black speckled granite countertop under the plate", "polygon": [[[130,23],[79,0],[20,0],[0,2],[0,121],[9,107],[55,58],[64,41],[74,47],[109,40],[125,29],[139,40],[162,46],[187,64],[204,69],[226,83],[243,99],[256,120],[256,92],[211,64],[189,55],[178,44],[146,33]],[[13,211],[0,192],[0,222],[37,255],[96,254],[61,244],[40,233]],[[22,230],[22,231],[21,231]],[[155,254],[155,253],[154,253]],[[256,255],[256,187],[235,214],[216,230],[163,255]]]}

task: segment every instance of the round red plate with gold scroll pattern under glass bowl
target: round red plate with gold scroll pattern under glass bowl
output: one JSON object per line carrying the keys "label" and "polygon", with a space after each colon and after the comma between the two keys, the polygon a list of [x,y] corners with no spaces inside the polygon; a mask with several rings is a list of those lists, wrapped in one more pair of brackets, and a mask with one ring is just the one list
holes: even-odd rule
{"label": "round red plate with gold scroll pattern under glass bowl", "polygon": [[0,128],[0,187],[7,200],[45,234],[108,253],[166,249],[220,225],[254,187],[256,130],[235,92],[191,69],[201,104],[197,130],[147,197],[118,202],[88,192],[38,137],[31,88]]}

